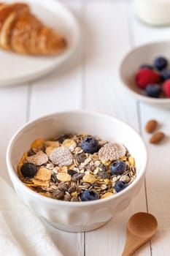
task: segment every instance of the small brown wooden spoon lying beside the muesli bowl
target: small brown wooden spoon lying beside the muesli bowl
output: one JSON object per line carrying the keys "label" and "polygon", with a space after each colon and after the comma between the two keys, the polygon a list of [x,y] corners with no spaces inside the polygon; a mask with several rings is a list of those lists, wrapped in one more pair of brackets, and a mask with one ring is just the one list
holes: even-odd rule
{"label": "small brown wooden spoon lying beside the muesli bowl", "polygon": [[139,212],[128,219],[125,248],[122,256],[131,256],[155,234],[158,222],[152,214]]}

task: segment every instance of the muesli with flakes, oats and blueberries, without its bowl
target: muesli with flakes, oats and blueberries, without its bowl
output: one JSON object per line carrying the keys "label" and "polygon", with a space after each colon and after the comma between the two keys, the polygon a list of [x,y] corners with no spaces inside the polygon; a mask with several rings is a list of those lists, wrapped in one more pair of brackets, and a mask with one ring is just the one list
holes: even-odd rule
{"label": "muesli with flakes, oats and blueberries, without its bowl", "polygon": [[69,134],[34,140],[18,162],[18,176],[34,192],[56,200],[102,200],[128,187],[136,166],[122,143]]}

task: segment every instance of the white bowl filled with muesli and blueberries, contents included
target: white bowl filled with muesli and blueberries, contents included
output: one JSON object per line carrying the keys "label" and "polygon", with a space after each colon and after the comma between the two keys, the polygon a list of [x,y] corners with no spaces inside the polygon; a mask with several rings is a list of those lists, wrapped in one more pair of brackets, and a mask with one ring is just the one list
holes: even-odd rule
{"label": "white bowl filled with muesli and blueberries, contents included", "polygon": [[113,116],[52,113],[21,127],[7,148],[18,197],[70,232],[101,227],[142,187],[147,150],[138,132]]}

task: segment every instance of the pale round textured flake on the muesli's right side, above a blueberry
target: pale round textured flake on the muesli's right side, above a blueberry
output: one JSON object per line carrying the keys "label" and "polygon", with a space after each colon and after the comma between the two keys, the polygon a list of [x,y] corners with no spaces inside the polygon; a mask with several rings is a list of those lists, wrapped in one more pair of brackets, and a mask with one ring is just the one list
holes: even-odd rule
{"label": "pale round textured flake on the muesli's right side, above a blueberry", "polygon": [[121,143],[107,143],[98,151],[99,159],[106,165],[107,161],[117,160],[124,157],[126,148]]}

